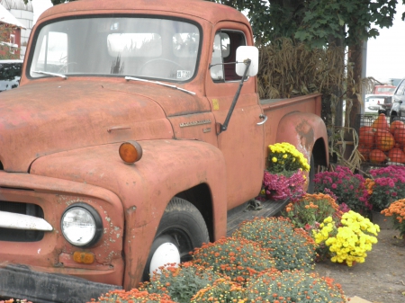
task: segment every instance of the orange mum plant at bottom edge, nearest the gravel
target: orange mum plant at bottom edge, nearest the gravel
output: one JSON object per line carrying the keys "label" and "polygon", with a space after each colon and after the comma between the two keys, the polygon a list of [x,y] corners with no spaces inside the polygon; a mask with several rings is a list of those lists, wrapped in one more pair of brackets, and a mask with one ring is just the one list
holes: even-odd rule
{"label": "orange mum plant at bottom edge, nearest the gravel", "polygon": [[262,302],[330,302],[345,303],[341,286],[333,279],[300,270],[261,272],[247,282],[247,301]]}

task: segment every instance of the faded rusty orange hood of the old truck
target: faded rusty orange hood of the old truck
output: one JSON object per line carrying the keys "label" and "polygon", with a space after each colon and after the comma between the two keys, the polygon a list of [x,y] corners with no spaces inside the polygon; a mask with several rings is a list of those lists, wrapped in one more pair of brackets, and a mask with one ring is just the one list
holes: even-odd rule
{"label": "faded rusty orange hood of the old truck", "polygon": [[182,102],[195,98],[122,78],[52,78],[11,92],[0,101],[0,161],[8,172],[27,172],[36,158],[65,150],[173,138],[166,116],[184,113]]}

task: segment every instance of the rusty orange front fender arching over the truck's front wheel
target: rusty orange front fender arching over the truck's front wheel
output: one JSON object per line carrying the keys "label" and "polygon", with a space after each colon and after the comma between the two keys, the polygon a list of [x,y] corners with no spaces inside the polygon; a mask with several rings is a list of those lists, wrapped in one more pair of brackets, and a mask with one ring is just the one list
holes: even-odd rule
{"label": "rusty orange front fender arching over the truck's front wheel", "polygon": [[137,286],[167,203],[179,192],[201,183],[211,191],[214,238],[226,235],[225,160],[217,147],[196,140],[139,141],[143,156],[126,165],[110,144],[44,156],[31,174],[94,184],[114,192],[125,212],[124,288]]}

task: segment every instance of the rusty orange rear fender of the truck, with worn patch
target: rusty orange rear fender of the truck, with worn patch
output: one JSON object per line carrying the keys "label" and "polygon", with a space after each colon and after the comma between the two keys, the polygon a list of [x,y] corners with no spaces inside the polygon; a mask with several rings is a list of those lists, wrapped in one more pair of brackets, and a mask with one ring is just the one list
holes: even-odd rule
{"label": "rusty orange rear fender of the truck, with worn patch", "polygon": [[329,164],[327,129],[324,121],[313,113],[293,111],[286,114],[278,124],[276,142],[291,143],[302,152],[308,163],[316,146],[320,148],[317,152],[324,156],[325,163],[322,164]]}

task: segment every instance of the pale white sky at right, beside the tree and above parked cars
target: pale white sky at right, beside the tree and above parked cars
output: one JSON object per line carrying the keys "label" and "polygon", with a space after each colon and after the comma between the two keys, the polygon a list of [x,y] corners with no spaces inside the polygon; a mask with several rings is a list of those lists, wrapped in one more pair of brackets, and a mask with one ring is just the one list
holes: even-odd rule
{"label": "pale white sky at right, beside the tree and above parked cars", "polygon": [[379,29],[380,36],[367,41],[366,76],[380,82],[405,77],[405,22],[401,20],[404,11],[405,5],[397,4],[392,27]]}

